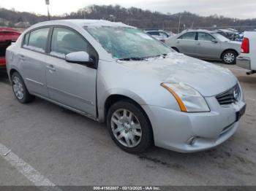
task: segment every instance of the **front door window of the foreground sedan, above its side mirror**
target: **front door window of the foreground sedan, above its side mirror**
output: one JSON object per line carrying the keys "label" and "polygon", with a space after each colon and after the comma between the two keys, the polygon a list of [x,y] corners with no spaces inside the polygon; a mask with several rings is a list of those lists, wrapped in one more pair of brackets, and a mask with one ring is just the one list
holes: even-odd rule
{"label": "front door window of the foreground sedan, above its side mirror", "polygon": [[75,31],[67,28],[53,28],[50,55],[65,58],[65,55],[79,51],[85,51],[94,57],[97,54],[91,47],[91,44]]}

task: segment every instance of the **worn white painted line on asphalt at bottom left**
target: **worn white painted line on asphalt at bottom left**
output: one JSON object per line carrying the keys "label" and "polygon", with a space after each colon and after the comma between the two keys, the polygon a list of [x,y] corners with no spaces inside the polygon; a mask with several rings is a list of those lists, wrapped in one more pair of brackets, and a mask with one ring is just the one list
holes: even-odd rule
{"label": "worn white painted line on asphalt at bottom left", "polygon": [[7,160],[7,162],[15,167],[21,174],[26,176],[26,178],[35,186],[40,187],[40,189],[48,190],[48,188],[51,187],[53,190],[61,190],[59,187],[56,187],[53,182],[50,182],[49,179],[46,179],[45,176],[42,176],[42,174],[40,174],[36,169],[18,157],[18,155],[15,155],[15,153],[1,143],[0,156]]}

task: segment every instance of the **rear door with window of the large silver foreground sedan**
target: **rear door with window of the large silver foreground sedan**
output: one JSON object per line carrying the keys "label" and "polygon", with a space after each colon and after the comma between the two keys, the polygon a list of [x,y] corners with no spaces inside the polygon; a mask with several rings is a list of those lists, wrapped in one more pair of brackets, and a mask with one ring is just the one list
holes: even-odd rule
{"label": "rear door with window of the large silver foreground sedan", "polygon": [[18,52],[20,74],[30,93],[48,97],[46,86],[46,47],[50,28],[37,28],[24,36]]}

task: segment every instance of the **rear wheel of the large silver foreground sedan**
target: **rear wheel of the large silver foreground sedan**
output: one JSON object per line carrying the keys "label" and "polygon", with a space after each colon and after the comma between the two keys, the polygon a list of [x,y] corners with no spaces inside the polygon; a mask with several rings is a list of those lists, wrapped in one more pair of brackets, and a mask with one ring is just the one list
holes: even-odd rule
{"label": "rear wheel of the large silver foreground sedan", "polygon": [[12,90],[21,104],[27,104],[34,101],[34,95],[29,94],[22,77],[18,72],[12,74]]}

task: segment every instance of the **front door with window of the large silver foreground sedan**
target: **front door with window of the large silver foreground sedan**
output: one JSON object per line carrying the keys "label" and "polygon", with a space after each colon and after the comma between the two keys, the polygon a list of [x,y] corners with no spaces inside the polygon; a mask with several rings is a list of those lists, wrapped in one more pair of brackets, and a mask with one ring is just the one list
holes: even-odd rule
{"label": "front door with window of the large silver foreground sedan", "polygon": [[96,117],[97,69],[68,63],[65,55],[85,51],[97,60],[97,52],[83,36],[71,28],[54,27],[47,56],[47,87],[50,99],[89,117]]}

